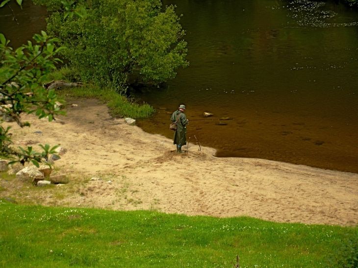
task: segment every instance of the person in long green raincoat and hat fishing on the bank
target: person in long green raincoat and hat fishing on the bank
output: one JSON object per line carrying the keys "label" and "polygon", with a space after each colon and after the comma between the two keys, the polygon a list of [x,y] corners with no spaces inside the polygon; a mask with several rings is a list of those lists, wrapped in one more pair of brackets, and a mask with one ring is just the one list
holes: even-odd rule
{"label": "person in long green raincoat and hat fishing on the bank", "polygon": [[[178,111],[175,111],[170,119],[173,123],[177,122],[177,130],[174,133],[174,144],[177,145],[177,152],[183,153],[181,146],[186,145],[186,127],[185,125],[189,123],[189,120],[186,119],[184,115],[185,105],[180,105]],[[179,118],[178,118],[179,117]]]}

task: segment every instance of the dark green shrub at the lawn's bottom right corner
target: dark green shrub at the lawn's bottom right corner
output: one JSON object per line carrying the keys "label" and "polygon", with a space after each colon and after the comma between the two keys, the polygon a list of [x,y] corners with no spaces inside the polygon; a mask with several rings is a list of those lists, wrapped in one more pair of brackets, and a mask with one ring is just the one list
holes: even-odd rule
{"label": "dark green shrub at the lawn's bottom right corner", "polygon": [[337,241],[330,257],[330,268],[358,268],[358,230]]}

